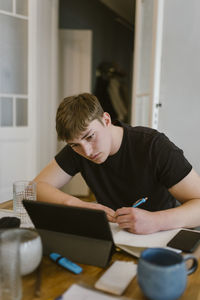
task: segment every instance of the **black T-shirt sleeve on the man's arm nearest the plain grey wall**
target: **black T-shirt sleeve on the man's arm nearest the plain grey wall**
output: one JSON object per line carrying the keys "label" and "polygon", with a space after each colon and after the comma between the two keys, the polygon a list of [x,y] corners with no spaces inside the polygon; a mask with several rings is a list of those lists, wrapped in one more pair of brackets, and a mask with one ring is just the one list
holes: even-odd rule
{"label": "black T-shirt sleeve on the man's arm nearest the plain grey wall", "polygon": [[154,172],[157,180],[170,188],[192,170],[183,150],[172,143],[163,133],[156,136],[151,149]]}

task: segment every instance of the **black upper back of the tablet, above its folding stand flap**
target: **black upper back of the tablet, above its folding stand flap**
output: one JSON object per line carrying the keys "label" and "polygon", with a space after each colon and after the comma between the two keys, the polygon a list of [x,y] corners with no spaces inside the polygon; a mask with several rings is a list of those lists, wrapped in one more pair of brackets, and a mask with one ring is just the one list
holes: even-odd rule
{"label": "black upper back of the tablet, above its folding stand flap", "polygon": [[32,200],[23,200],[23,205],[38,229],[112,241],[103,210]]}

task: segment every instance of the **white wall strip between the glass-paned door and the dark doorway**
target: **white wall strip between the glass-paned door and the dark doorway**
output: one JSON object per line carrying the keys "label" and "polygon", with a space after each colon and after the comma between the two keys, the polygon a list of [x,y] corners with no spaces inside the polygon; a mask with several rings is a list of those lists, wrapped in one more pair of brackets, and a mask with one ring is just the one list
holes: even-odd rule
{"label": "white wall strip between the glass-paned door and the dark doorway", "polygon": [[57,150],[55,116],[58,106],[58,0],[31,0],[35,10],[32,32],[35,100],[37,173],[51,161]]}

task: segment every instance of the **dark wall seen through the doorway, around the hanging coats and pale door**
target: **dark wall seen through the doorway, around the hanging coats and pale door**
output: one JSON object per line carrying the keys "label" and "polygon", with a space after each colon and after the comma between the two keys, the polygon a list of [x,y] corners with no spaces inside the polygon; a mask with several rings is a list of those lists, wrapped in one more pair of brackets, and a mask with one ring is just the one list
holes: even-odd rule
{"label": "dark wall seen through the doorway, around the hanging coats and pale door", "polygon": [[[134,10],[130,14],[134,18]],[[118,17],[99,0],[60,0],[60,29],[93,32],[91,90],[94,91],[97,66],[103,61],[117,62],[127,74],[127,107],[130,111],[134,30],[120,23]]]}

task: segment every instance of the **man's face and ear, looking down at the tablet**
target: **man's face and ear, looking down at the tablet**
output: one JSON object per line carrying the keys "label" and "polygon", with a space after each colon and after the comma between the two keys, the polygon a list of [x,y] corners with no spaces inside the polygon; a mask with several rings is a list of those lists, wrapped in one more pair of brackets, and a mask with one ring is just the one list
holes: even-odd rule
{"label": "man's face and ear, looking down at the tablet", "polygon": [[93,120],[78,138],[67,141],[75,152],[96,164],[103,163],[112,149],[109,114],[103,114],[102,122],[103,124],[97,119]]}

